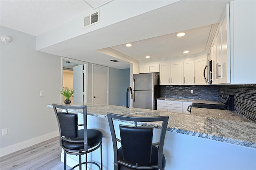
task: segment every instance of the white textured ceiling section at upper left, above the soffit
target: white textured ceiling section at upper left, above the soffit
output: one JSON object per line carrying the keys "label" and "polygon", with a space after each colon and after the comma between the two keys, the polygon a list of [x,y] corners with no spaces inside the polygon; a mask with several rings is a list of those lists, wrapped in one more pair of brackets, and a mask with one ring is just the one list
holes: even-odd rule
{"label": "white textured ceiling section at upper left, above the soffit", "polygon": [[1,25],[38,36],[80,14],[97,8],[104,0],[1,0]]}

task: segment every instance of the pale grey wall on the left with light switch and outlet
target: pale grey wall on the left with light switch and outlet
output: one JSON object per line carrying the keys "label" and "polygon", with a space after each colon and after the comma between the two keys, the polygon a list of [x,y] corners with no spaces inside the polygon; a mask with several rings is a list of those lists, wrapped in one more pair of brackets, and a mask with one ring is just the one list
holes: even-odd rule
{"label": "pale grey wall on the left with light switch and outlet", "polygon": [[1,26],[2,35],[12,42],[1,41],[1,156],[58,135],[54,111],[46,105],[60,101],[61,70],[59,56],[35,50],[35,36]]}

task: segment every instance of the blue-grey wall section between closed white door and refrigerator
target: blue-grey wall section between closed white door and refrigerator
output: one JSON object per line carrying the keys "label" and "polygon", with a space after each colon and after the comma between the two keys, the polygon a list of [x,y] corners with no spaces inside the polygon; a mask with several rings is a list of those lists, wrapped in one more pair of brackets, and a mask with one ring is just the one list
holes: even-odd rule
{"label": "blue-grey wall section between closed white door and refrigerator", "polygon": [[110,105],[126,106],[126,90],[129,87],[129,79],[130,69],[109,68]]}

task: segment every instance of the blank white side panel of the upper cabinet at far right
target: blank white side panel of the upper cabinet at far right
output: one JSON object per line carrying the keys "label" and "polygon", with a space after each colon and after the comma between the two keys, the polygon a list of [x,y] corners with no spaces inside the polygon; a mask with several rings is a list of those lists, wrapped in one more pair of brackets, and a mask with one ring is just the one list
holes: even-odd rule
{"label": "blank white side panel of the upper cabinet at far right", "polygon": [[256,83],[255,0],[230,2],[230,35],[231,83]]}

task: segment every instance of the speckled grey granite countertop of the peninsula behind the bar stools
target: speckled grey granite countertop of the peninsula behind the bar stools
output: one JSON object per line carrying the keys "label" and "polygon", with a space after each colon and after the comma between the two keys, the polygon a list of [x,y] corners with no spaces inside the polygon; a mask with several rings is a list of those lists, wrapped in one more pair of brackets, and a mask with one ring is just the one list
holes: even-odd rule
{"label": "speckled grey granite countertop of the peninsula behind the bar stools", "polygon": [[[62,105],[65,104],[62,103]],[[216,113],[220,115],[225,115],[226,117],[230,118],[226,119],[224,118],[224,116],[222,116],[223,119],[220,119],[220,117],[208,117],[207,114],[204,116],[200,115],[199,112],[202,113],[206,111],[207,113],[207,110],[204,109],[198,111],[198,115],[188,115],[183,113],[172,113],[148,109],[126,108],[114,105],[100,105],[88,103],[71,103],[71,105],[87,105],[88,115],[105,119],[107,119],[107,112],[138,117],[168,115],[168,131],[256,148],[256,124],[243,119],[233,120],[232,115],[228,116],[223,113]],[[52,107],[52,105],[49,104],[47,105],[47,107]],[[215,109],[208,109],[209,113],[210,110]],[[196,114],[195,108],[193,108],[192,111]],[[81,111],[76,112],[79,113]],[[160,125],[154,124],[154,127],[160,128]]]}

